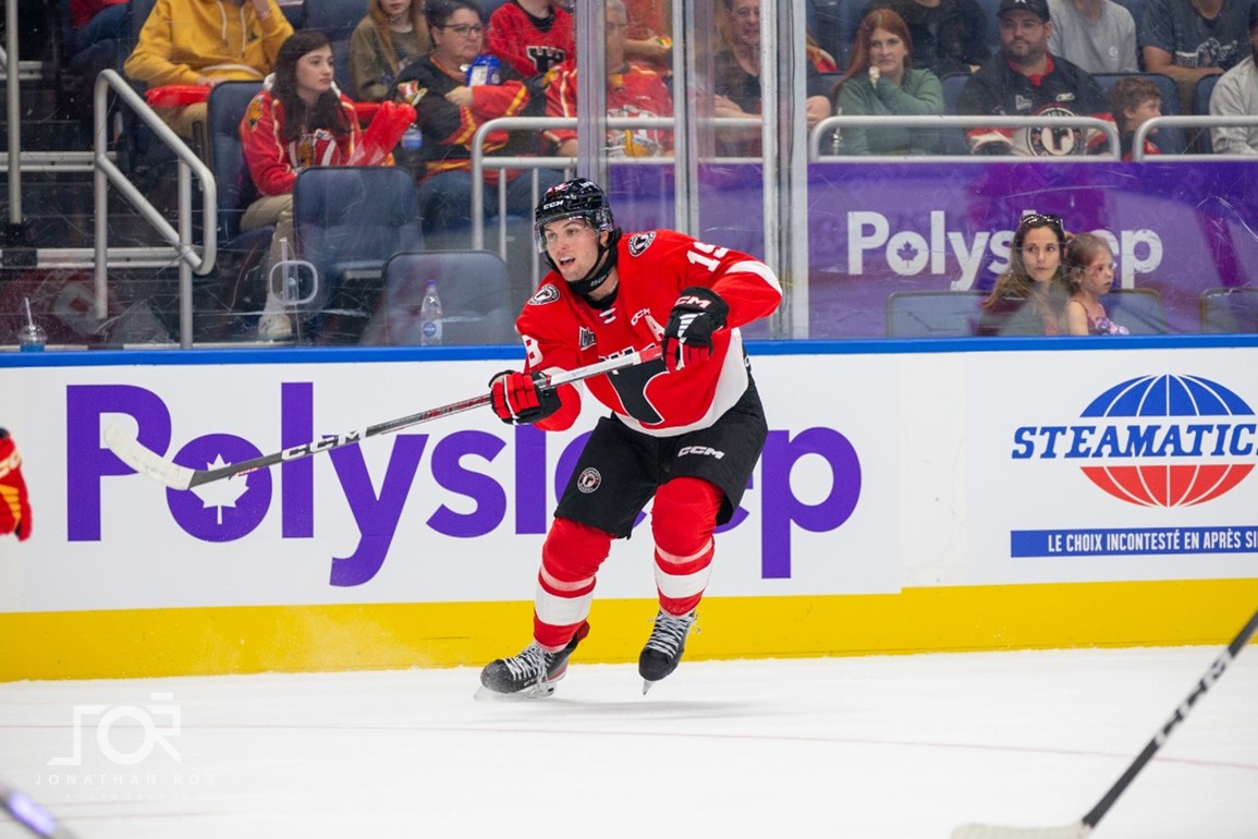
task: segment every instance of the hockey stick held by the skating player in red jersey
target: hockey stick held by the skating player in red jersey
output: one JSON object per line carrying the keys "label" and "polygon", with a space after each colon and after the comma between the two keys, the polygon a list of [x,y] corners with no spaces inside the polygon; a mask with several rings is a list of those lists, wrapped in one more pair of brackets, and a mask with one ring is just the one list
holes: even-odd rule
{"label": "hockey stick held by the skating player in red jersey", "polygon": [[[561,370],[554,375],[536,375],[541,377],[540,384],[543,389],[554,390],[560,385],[569,385],[584,379],[590,379],[591,376],[614,372],[624,367],[643,364],[644,361],[654,361],[655,358],[659,358],[659,346],[650,346],[645,350],[606,358],[605,361],[586,365],[585,367],[577,367],[576,370]],[[400,416],[398,419],[389,420],[387,423],[369,425],[367,428],[348,431],[347,434],[326,436],[322,440],[303,443],[302,445],[294,445],[289,449],[284,449],[283,452],[265,454],[260,458],[253,458],[252,460],[242,460],[240,463],[231,463],[216,469],[190,469],[187,467],[181,467],[177,463],[161,457],[152,449],[146,448],[135,438],[135,435],[125,431],[118,425],[111,425],[104,430],[104,442],[106,445],[109,447],[111,452],[118,455],[123,463],[136,472],[141,472],[153,481],[159,481],[172,489],[191,489],[192,487],[199,487],[203,483],[221,481],[223,478],[230,478],[247,472],[255,472],[257,469],[264,469],[277,463],[308,458],[309,455],[318,454],[320,452],[331,452],[332,449],[338,449],[342,445],[360,443],[369,436],[391,434],[392,431],[400,431],[401,429],[410,428],[411,425],[419,425],[420,423],[428,423],[429,420],[440,419],[443,416],[462,414],[463,411],[488,404],[488,394],[473,396],[472,399],[450,403],[449,405],[433,408],[426,411],[420,411],[419,414],[411,414],[410,416]]]}

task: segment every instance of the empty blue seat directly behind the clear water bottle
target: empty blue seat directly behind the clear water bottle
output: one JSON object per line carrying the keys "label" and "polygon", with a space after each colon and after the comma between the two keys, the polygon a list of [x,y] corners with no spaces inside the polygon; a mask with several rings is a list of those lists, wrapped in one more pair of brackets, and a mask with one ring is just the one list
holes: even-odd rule
{"label": "empty blue seat directly behind the clear water bottle", "polygon": [[419,306],[429,279],[442,297],[442,343],[515,345],[517,311],[507,265],[492,250],[408,250],[385,263],[380,307],[362,343],[418,345]]}

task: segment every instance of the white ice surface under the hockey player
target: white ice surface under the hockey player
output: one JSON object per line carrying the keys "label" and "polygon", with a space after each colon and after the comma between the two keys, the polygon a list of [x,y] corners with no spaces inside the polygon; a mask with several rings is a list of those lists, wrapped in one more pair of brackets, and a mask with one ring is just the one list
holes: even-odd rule
{"label": "white ice surface under the hockey player", "polygon": [[[470,668],[10,683],[0,780],[81,839],[942,839],[1079,819],[1219,652],[684,662],[647,697],[632,665],[574,664],[532,702],[473,701]],[[179,761],[147,704],[177,709]],[[75,707],[81,765],[49,765]],[[1094,835],[1258,836],[1258,650]]]}

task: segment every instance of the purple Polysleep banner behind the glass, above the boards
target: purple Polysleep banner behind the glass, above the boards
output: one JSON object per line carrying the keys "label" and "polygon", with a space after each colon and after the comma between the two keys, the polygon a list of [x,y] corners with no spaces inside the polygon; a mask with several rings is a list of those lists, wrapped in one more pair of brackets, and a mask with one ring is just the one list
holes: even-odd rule
{"label": "purple Polysleep banner behind the glass, above the boards", "polygon": [[[752,165],[703,169],[699,238],[762,255],[760,177]],[[667,177],[620,167],[611,186],[626,230],[673,226]],[[990,289],[1032,210],[1110,239],[1115,284],[1156,292],[1169,332],[1213,328],[1206,292],[1258,288],[1250,162],[813,164],[808,206],[816,338],[887,335],[893,292]]]}

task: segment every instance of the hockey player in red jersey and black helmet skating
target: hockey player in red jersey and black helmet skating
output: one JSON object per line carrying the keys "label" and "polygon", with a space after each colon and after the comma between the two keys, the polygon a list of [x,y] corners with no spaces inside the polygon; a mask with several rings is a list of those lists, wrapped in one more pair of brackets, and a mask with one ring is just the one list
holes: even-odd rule
{"label": "hockey player in red jersey and black helmet skating", "polygon": [[590,631],[595,575],[654,497],[650,531],[659,613],[638,659],[643,692],[672,673],[694,623],[716,550],[767,436],[738,327],[781,302],[777,277],[745,253],[674,230],[621,235],[606,195],[582,177],[552,186],[533,214],[552,270],[516,330],[523,371],[489,384],[504,423],[547,431],[581,410],[572,385],[535,374],[660,347],[663,357],[586,380],[610,409],[572,470],[542,546],[533,642],[481,673],[489,694],[548,696]]}

